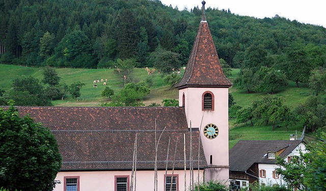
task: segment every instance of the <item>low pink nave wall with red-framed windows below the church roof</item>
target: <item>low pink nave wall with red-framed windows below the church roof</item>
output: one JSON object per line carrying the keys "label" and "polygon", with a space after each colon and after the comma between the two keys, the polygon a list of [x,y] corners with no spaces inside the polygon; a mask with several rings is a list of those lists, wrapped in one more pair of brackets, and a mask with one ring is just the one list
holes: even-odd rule
{"label": "low pink nave wall with red-framed windows below the church roof", "polygon": [[[168,171],[171,175],[172,171]],[[200,182],[203,181],[204,171],[199,171]],[[178,175],[179,190],[184,190],[184,171],[175,170],[174,175]],[[79,191],[107,191],[115,190],[115,176],[129,176],[131,182],[131,171],[90,171],[90,172],[59,172],[56,180],[60,180],[54,191],[64,190],[65,176],[79,176]],[[164,190],[165,171],[157,172],[157,188],[158,191]],[[154,171],[137,171],[137,190],[154,190]],[[194,170],[194,182],[198,180],[198,171]],[[187,187],[190,185],[190,171],[186,171]],[[130,187],[130,185],[128,185]]]}

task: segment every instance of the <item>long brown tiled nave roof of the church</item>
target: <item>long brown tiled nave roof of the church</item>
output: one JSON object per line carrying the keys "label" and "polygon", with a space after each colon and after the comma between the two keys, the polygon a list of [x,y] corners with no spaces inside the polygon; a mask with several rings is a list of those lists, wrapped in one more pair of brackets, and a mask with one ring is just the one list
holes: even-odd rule
{"label": "long brown tiled nave roof of the church", "polygon": [[[155,123],[158,169],[172,169],[178,139],[175,169],[184,168],[183,135],[189,167],[190,135],[182,107],[17,107],[19,115],[29,114],[55,135],[63,158],[62,171],[130,170],[137,134],[137,169],[154,169]],[[165,130],[164,130],[165,129]],[[163,131],[164,130],[164,131]],[[193,159],[207,166],[199,132],[192,132]]]}

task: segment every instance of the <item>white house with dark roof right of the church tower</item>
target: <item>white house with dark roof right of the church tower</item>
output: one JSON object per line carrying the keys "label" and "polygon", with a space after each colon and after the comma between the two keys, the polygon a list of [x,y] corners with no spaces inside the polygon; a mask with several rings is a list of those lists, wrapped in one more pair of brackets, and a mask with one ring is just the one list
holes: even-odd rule
{"label": "white house with dark roof right of the church tower", "polygon": [[301,140],[238,141],[229,151],[230,182],[235,187],[248,187],[254,181],[282,185],[285,182],[275,171],[276,156],[290,162],[305,149]]}

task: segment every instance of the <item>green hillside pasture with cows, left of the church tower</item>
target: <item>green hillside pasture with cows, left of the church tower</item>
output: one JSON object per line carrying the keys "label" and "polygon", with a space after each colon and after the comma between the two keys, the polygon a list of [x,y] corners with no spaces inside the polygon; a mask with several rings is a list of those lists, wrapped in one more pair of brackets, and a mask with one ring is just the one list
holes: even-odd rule
{"label": "green hillside pasture with cows, left of the church tower", "polygon": [[[67,85],[73,82],[80,81],[85,84],[80,90],[81,96],[78,102],[71,98],[65,100],[55,100],[52,104],[55,106],[85,106],[96,107],[100,106],[102,102],[107,102],[105,98],[101,97],[101,93],[105,86],[102,83],[98,84],[98,88],[93,87],[94,80],[107,79],[106,86],[111,87],[115,92],[123,88],[122,80],[117,80],[118,75],[114,69],[56,69],[58,76],[61,78],[60,83]],[[8,91],[12,88],[12,83],[15,79],[24,76],[33,76],[34,78],[43,79],[41,68],[31,68],[14,65],[0,65],[0,88]],[[161,104],[163,99],[178,98],[178,91],[176,89],[170,90],[163,82],[158,73],[148,75],[145,69],[135,68],[132,74],[132,80],[139,82],[152,78],[153,85],[151,86],[151,93],[145,97],[144,103],[149,105],[153,102]],[[152,100],[153,99],[153,100]],[[147,104],[148,103],[148,104]]]}

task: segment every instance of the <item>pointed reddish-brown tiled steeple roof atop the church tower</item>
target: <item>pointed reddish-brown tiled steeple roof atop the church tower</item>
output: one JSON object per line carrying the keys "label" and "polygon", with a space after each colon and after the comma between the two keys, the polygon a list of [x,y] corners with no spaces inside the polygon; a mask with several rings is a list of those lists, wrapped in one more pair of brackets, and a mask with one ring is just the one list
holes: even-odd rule
{"label": "pointed reddish-brown tiled steeple roof atop the church tower", "polygon": [[176,88],[187,87],[231,87],[232,83],[224,75],[206,18],[205,1],[202,21],[199,24],[187,68]]}

